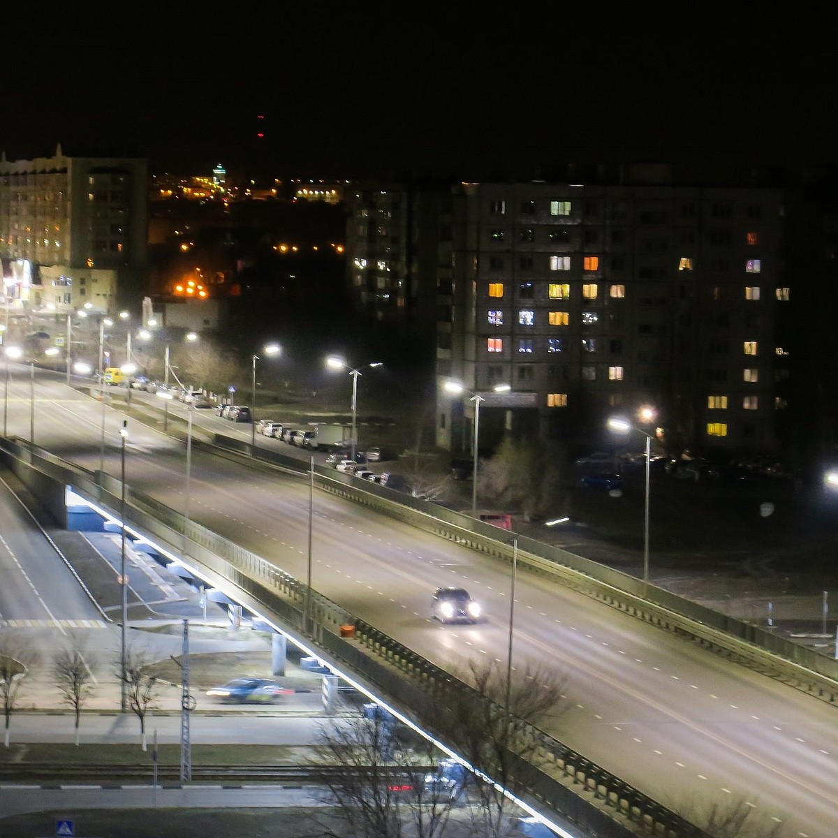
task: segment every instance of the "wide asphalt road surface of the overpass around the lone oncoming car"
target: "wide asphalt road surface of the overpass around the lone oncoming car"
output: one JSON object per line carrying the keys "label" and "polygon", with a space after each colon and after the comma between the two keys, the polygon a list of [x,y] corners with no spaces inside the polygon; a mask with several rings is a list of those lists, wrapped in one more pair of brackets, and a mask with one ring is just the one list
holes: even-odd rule
{"label": "wide asphalt road surface of the overpass around the lone oncoming car", "polygon": [[[9,434],[28,439],[24,382],[16,375],[10,391]],[[100,404],[39,379],[35,413],[36,444],[99,467]],[[230,432],[217,416],[195,411],[194,422]],[[183,442],[129,426],[127,483],[184,510]],[[120,427],[106,407],[106,470],[117,477]],[[330,494],[315,494],[310,532],[309,511],[305,477],[193,447],[194,520],[303,580],[311,535],[323,595],[438,665],[504,664],[508,566]],[[448,584],[483,603],[483,623],[432,623],[432,591]],[[838,834],[835,708],[546,578],[521,572],[515,594],[514,670],[534,661],[567,678],[551,726],[561,741],[675,810],[741,800],[781,835]]]}

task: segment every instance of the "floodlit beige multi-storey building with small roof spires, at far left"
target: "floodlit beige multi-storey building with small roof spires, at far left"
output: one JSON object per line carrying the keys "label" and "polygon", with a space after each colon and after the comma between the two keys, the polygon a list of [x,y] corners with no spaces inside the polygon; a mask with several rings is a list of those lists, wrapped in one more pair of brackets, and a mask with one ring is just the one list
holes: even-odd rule
{"label": "floodlit beige multi-storey building with small roof spires, at far left", "polygon": [[107,312],[136,296],[146,169],[141,158],[70,157],[60,146],[52,158],[0,158],[0,256],[14,307]]}

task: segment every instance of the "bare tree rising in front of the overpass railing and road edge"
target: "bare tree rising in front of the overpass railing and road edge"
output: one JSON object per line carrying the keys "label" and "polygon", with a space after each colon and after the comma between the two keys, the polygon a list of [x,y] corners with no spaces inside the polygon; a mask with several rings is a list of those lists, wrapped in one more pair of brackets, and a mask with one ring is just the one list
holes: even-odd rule
{"label": "bare tree rising in front of the overpass railing and road edge", "polygon": [[468,786],[475,834],[500,838],[520,814],[509,795],[527,794],[539,771],[536,728],[566,710],[566,676],[527,664],[508,679],[496,661],[470,661],[455,675],[468,687],[442,685],[427,725],[477,770]]}

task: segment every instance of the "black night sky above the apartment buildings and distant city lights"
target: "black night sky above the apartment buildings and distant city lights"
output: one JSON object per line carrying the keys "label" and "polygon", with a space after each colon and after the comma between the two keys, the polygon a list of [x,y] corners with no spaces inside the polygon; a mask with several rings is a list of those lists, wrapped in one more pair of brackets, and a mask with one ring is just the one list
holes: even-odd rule
{"label": "black night sky above the apartment buildings and distant city lights", "polygon": [[31,158],[61,142],[141,154],[152,173],[222,163],[307,178],[838,159],[825,22],[801,42],[729,18],[627,18],[607,32],[600,8],[587,20],[511,5],[453,19],[360,4],[334,19],[327,5],[246,23],[229,7],[217,19],[159,8],[154,20],[62,23],[6,49],[0,151]]}

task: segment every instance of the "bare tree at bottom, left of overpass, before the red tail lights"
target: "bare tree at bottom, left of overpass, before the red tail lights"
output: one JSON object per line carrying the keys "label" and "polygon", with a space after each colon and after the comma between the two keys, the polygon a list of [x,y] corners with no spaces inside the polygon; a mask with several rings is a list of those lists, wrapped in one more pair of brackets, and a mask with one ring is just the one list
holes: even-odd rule
{"label": "bare tree at bottom, left of overpass, before the red tail lights", "polygon": [[[380,708],[377,708],[380,710]],[[342,838],[438,838],[451,814],[446,789],[426,783],[439,760],[431,742],[389,713],[336,720],[315,749],[323,797],[335,820],[317,819],[322,835]],[[335,772],[335,767],[341,767]]]}

